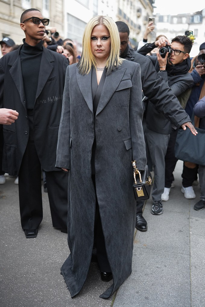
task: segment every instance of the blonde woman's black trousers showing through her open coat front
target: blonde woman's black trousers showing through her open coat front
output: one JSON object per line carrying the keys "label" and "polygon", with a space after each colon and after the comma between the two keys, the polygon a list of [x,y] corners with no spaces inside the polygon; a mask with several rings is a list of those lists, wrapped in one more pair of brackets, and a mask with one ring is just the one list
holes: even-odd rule
{"label": "blonde woman's black trousers showing through her open coat front", "polygon": [[[95,175],[92,175],[93,185],[95,188]],[[95,188],[96,192],[96,188]],[[96,210],[95,210],[95,227],[94,227],[94,247],[97,250],[97,261],[101,272],[111,272],[108,262],[107,252],[105,249],[104,235],[99,212],[99,205],[96,195]]]}

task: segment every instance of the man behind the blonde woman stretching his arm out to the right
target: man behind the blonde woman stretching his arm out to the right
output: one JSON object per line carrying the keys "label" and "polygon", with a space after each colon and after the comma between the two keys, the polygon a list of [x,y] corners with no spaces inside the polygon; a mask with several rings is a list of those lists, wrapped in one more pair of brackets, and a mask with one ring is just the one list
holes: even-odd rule
{"label": "man behind the blonde woman stretching his arm out to the right", "polygon": [[[128,44],[129,28],[123,21],[117,21],[116,25],[120,34],[121,57],[140,64],[141,81],[144,95],[161,111],[164,116],[171,121],[176,127],[182,126],[185,130],[186,126],[196,134],[195,128],[191,124],[191,120],[183,108],[180,106],[178,99],[171,91],[168,84],[156,72],[151,60],[138,52],[135,52]],[[140,231],[147,230],[147,222],[142,216],[144,201],[137,202],[136,210],[136,228]]]}

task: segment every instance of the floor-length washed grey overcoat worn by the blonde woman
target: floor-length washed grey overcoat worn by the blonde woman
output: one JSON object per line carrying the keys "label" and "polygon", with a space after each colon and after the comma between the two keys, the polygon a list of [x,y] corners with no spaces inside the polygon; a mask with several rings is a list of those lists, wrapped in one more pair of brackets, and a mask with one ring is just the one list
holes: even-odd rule
{"label": "floor-length washed grey overcoat worn by the blonde woman", "polygon": [[145,169],[140,65],[123,61],[106,76],[95,124],[91,72],[83,76],[76,64],[67,68],[56,167],[69,169],[68,245],[70,255],[61,272],[75,296],[88,274],[92,256],[95,190],[91,154],[96,136],[95,181],[102,229],[113,284],[108,298],[131,274],[136,206],[133,170]]}

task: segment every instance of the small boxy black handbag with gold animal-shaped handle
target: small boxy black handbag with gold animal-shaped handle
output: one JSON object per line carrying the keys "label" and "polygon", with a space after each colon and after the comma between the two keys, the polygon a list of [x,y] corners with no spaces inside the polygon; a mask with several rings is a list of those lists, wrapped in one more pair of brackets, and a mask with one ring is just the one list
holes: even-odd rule
{"label": "small boxy black handbag with gold animal-shaped handle", "polygon": [[133,191],[136,200],[149,199],[152,185],[152,175],[146,165],[146,169],[139,171],[136,161],[132,161],[134,184]]}

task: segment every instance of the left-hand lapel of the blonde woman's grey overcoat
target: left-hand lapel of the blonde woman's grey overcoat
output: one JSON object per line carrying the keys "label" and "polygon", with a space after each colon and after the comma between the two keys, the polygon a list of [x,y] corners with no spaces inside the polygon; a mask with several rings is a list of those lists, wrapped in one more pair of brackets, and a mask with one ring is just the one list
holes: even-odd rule
{"label": "left-hand lapel of the blonde woman's grey overcoat", "polygon": [[91,89],[91,75],[92,70],[90,70],[88,75],[81,75],[78,72],[78,68],[76,67],[76,76],[77,76],[77,84],[80,88],[80,91],[90,109],[93,113],[93,97],[92,97],[92,89]]}

